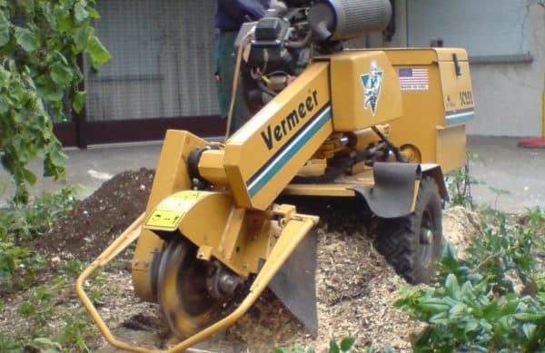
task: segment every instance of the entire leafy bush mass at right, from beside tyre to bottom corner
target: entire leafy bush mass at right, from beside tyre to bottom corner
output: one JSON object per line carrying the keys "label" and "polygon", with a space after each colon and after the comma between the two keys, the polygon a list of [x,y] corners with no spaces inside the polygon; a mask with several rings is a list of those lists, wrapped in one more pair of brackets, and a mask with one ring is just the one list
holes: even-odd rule
{"label": "entire leafy bush mass at right, from beside tyre to bottom corner", "polygon": [[[411,339],[415,351],[531,352],[545,347],[545,286],[532,252],[542,234],[535,226],[509,224],[498,211],[481,213],[483,234],[472,241],[467,258],[457,259],[447,246],[437,283],[404,290],[396,303],[428,324]],[[514,280],[524,285],[520,293]]]}

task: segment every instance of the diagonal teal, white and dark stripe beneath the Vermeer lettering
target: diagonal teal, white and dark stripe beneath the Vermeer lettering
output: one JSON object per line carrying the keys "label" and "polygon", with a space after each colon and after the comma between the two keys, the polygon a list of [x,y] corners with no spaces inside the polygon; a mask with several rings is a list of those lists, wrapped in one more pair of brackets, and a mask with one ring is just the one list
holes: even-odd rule
{"label": "diagonal teal, white and dark stripe beneath the Vermeer lettering", "polygon": [[301,150],[304,143],[311,139],[312,136],[320,131],[322,126],[331,119],[332,105],[327,103],[324,105],[321,112],[318,112],[312,119],[309,119],[310,122],[303,126],[300,131],[296,132],[295,135],[293,135],[292,140],[284,144],[282,149],[276,152],[272,158],[264,164],[264,168],[253,174],[246,182],[250,197],[253,198],[257,192],[262,190],[263,186],[271,181],[272,177]]}

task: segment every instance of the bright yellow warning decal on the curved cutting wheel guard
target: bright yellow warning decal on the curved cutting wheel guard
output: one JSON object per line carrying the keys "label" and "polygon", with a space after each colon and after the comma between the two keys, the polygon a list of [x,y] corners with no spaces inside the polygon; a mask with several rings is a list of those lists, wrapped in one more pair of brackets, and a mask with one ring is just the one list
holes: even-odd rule
{"label": "bright yellow warning decal on the curved cutting wheel guard", "polygon": [[144,228],[175,230],[183,215],[211,192],[179,191],[159,202]]}

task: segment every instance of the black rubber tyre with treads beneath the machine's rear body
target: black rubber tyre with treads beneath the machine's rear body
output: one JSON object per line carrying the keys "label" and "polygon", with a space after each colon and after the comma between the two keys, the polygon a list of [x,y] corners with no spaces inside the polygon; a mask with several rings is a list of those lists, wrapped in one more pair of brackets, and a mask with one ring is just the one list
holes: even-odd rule
{"label": "black rubber tyre with treads beneath the machine's rear body", "polygon": [[435,276],[434,262],[441,255],[441,223],[437,184],[431,177],[425,177],[410,215],[379,222],[377,250],[408,282],[428,282]]}

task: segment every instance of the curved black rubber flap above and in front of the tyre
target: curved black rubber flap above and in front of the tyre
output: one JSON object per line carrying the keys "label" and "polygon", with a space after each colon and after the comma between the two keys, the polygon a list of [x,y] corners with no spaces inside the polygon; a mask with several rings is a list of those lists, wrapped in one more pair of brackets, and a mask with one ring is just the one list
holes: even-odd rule
{"label": "curved black rubber flap above and in front of the tyre", "polygon": [[411,213],[421,180],[421,166],[414,163],[375,162],[374,186],[355,187],[369,204],[371,211],[381,218],[404,217]]}

